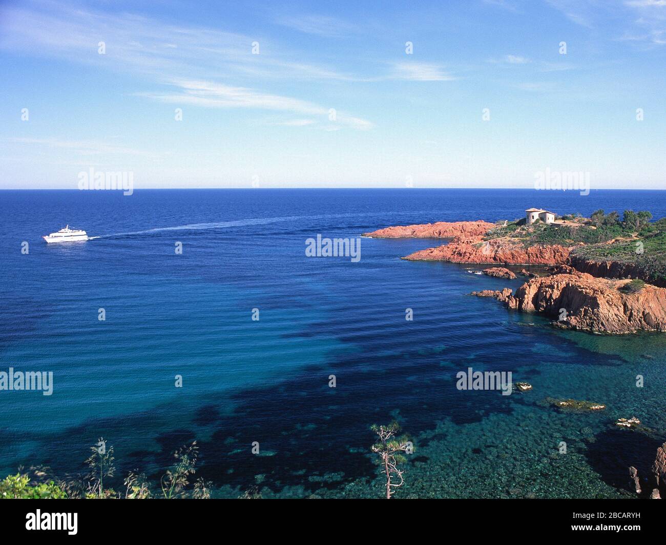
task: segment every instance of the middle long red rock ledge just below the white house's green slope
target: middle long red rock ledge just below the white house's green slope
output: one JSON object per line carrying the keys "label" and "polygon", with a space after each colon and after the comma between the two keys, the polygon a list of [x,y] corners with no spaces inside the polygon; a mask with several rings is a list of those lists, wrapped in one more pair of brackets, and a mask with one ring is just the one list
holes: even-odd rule
{"label": "middle long red rock ledge just below the white house's green slope", "polygon": [[569,248],[560,245],[531,246],[491,240],[452,242],[420,250],[404,259],[409,261],[450,261],[451,263],[503,263],[507,265],[564,265]]}

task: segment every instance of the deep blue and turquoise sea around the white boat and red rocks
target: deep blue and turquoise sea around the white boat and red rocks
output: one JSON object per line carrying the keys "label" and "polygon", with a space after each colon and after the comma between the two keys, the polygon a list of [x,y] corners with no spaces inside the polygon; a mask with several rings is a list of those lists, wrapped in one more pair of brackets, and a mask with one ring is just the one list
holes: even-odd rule
{"label": "deep blue and turquoise sea around the white boat and red rocks", "polygon": [[[520,278],[400,259],[442,240],[362,239],[358,263],[306,257],[305,241],[514,219],[529,207],[648,209],[660,218],[665,197],[0,191],[0,370],[53,371],[54,380],[51,396],[0,391],[0,477],[34,464],[81,471],[103,437],[115,448],[117,488],[135,468],[157,482],[170,453],[197,440],[198,475],[216,496],[256,487],[263,497],[381,498],[370,426],[397,418],[416,451],[396,497],[627,496],[627,468],[647,476],[666,436],[666,335],[555,330],[539,316],[468,296],[517,288]],[[41,239],[66,223],[99,238]],[[468,367],[510,370],[533,390],[457,390],[456,373]],[[547,396],[607,409],[561,414],[543,403]],[[621,416],[637,416],[653,433],[617,428]]]}

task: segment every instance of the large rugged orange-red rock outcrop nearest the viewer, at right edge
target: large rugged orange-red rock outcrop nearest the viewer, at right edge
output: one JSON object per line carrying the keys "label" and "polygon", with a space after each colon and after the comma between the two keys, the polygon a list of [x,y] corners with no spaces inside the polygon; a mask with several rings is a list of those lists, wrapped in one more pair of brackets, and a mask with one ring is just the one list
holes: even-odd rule
{"label": "large rugged orange-red rock outcrop nearest the viewer, at right edge", "polygon": [[556,317],[561,327],[618,334],[666,331],[666,288],[645,284],[639,292],[618,290],[629,281],[587,273],[532,278],[506,304]]}

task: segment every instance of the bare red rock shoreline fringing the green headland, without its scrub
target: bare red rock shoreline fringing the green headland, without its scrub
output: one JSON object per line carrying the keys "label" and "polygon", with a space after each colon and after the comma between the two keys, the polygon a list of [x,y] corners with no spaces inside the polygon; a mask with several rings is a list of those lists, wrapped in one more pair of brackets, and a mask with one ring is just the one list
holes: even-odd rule
{"label": "bare red rock shoreline fringing the green headland, without its scrub", "polygon": [[[472,292],[472,295],[496,298],[512,310],[538,312],[553,318],[553,325],[557,327],[605,334],[640,330],[666,332],[666,288],[633,276],[631,265],[571,259],[573,247],[560,244],[528,246],[500,237],[489,239],[488,233],[497,228],[496,224],[486,221],[438,222],[387,227],[364,233],[364,236],[450,239],[448,244],[403,258],[408,261],[547,265],[547,276],[535,276],[523,269],[523,274],[535,277],[529,278],[515,294],[505,288]],[[503,267],[491,267],[482,272],[515,278],[515,273]],[[601,276],[611,276],[611,273],[624,277]]]}

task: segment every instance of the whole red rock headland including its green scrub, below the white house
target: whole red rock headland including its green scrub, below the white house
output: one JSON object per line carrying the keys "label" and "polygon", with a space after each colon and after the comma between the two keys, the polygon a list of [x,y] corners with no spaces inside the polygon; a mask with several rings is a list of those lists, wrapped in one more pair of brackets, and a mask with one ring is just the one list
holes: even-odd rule
{"label": "whole red rock headland including its green scrub, below the white house", "polygon": [[[666,331],[666,221],[634,225],[629,212],[623,221],[597,211],[592,219],[565,217],[550,225],[525,225],[524,219],[438,222],[366,236],[451,239],[403,258],[408,261],[546,265],[547,276],[523,269],[529,280],[515,294],[509,288],[472,294],[494,297],[513,310],[539,312],[558,327],[613,334]],[[484,273],[515,278],[504,267]]]}

